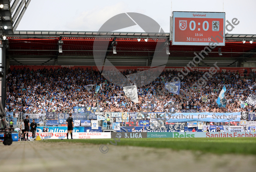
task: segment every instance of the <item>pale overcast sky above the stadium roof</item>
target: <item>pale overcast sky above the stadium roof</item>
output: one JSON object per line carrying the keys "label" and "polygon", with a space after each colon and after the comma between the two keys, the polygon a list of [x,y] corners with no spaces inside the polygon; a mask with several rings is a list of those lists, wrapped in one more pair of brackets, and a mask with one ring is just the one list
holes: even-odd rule
{"label": "pale overcast sky above the stadium roof", "polygon": [[[114,15],[138,12],[169,33],[171,11],[223,12],[223,2],[226,20],[239,20],[229,34],[256,34],[255,0],[33,0],[16,30],[98,31]],[[117,31],[144,32],[138,25]]]}

